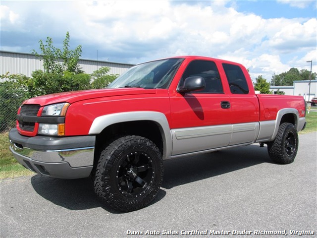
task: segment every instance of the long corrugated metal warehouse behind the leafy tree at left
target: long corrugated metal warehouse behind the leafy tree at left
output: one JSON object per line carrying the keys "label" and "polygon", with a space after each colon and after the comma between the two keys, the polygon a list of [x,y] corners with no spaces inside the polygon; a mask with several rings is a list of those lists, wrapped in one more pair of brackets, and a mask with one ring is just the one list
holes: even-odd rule
{"label": "long corrugated metal warehouse behind the leafy tree at left", "polygon": [[[103,66],[110,68],[110,74],[122,74],[133,65],[109,61],[79,60],[80,68],[89,74]],[[0,51],[0,75],[9,72],[10,74],[24,74],[31,77],[32,72],[38,69],[44,70],[43,61],[33,54]],[[3,80],[1,79],[1,81]]]}

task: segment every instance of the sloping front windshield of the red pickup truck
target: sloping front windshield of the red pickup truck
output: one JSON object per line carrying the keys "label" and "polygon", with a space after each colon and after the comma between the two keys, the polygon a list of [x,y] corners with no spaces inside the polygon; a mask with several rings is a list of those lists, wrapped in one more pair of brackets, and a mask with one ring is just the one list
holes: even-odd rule
{"label": "sloping front windshield of the red pickup truck", "polygon": [[163,88],[172,81],[184,59],[166,59],[133,66],[114,80],[108,88]]}

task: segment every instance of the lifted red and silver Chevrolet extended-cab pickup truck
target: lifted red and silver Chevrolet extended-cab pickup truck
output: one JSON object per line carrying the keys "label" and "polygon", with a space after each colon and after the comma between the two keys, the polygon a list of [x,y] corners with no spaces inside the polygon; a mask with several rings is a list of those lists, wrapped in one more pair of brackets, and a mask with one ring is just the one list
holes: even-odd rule
{"label": "lifted red and silver Chevrolet extended-cab pickup truck", "polygon": [[303,97],[256,95],[239,63],[173,57],[133,66],[106,89],[26,100],[10,150],[42,176],[91,176],[106,204],[133,211],[156,196],[166,159],[258,142],[292,163],[305,115]]}

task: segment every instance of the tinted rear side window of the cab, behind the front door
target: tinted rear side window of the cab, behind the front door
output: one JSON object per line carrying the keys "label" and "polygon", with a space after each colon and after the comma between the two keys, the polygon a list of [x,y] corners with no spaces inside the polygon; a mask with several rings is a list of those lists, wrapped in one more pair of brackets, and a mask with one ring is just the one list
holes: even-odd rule
{"label": "tinted rear side window of the cab, behind the front door", "polygon": [[222,67],[229,83],[230,92],[232,94],[249,94],[248,82],[242,69],[238,65],[230,63],[222,63]]}

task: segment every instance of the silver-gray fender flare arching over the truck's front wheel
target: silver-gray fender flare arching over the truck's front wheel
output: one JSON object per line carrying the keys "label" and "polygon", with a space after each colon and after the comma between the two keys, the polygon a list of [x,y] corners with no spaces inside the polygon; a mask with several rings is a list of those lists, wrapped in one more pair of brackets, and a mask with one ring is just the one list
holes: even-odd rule
{"label": "silver-gray fender flare arching over the truck's front wheel", "polygon": [[100,116],[94,119],[89,129],[90,135],[101,133],[107,126],[127,121],[151,120],[159,125],[159,130],[163,139],[163,159],[170,157],[172,153],[172,135],[168,121],[163,113],[141,111],[123,112]]}

